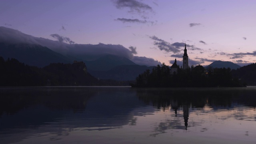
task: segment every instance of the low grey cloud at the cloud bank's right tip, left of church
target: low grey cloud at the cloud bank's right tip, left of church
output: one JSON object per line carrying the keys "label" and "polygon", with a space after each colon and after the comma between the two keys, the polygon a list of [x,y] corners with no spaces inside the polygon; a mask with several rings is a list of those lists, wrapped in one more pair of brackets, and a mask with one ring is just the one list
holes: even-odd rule
{"label": "low grey cloud at the cloud bank's right tip, left of church", "polygon": [[147,58],[145,56],[134,56],[130,60],[138,65],[145,65],[145,66],[157,66],[158,64],[161,65],[161,62],[159,62],[158,60],[154,60],[153,58]]}

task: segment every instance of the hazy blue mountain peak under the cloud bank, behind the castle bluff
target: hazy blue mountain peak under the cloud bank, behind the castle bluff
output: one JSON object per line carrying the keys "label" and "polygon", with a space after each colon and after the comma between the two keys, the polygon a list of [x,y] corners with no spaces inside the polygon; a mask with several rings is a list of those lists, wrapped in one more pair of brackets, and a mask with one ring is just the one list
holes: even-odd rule
{"label": "hazy blue mountain peak under the cloud bank, behind the castle bluff", "polygon": [[116,66],[121,65],[136,65],[128,58],[106,55],[98,58],[97,60],[84,61],[89,71],[108,71]]}

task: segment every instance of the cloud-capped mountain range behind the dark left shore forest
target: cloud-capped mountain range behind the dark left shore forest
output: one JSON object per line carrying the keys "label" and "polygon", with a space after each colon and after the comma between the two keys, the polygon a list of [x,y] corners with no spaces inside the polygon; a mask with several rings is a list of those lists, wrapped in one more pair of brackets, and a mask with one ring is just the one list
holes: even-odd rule
{"label": "cloud-capped mountain range behind the dark left shore forest", "polygon": [[138,74],[152,69],[148,66],[160,64],[152,58],[134,56],[134,51],[122,45],[67,44],[63,38],[66,37],[59,36],[58,41],[37,38],[0,26],[0,56],[38,67],[83,61],[92,76],[113,80],[135,80]]}

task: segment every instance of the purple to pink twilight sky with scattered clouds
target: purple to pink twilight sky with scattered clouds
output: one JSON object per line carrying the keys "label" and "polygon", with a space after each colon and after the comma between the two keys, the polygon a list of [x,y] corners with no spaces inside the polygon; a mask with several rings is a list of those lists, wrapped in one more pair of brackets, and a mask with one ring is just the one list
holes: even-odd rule
{"label": "purple to pink twilight sky with scattered clouds", "polygon": [[[0,26],[182,65],[256,62],[256,0],[0,0]],[[57,35],[56,35],[57,34]]]}

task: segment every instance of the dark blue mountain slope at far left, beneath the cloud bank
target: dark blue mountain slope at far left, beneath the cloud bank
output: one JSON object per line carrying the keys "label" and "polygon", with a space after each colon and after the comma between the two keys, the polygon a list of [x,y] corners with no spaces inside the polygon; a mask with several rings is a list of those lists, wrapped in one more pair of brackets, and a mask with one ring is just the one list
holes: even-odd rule
{"label": "dark blue mountain slope at far left, beneath the cloud bank", "polygon": [[50,63],[71,63],[72,60],[37,44],[8,44],[0,42],[0,56],[5,60],[16,58],[30,66],[44,67]]}

